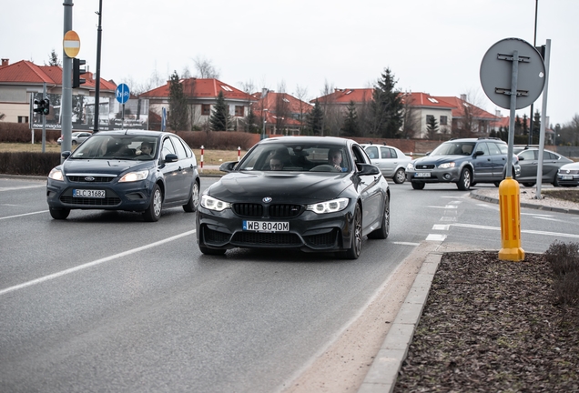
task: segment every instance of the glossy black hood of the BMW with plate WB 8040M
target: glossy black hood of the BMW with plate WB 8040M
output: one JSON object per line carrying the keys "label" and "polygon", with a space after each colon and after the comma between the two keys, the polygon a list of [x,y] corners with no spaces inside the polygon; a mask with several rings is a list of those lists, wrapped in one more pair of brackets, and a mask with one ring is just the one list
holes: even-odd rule
{"label": "glossy black hood of the BMW with plate WB 8040M", "polygon": [[234,172],[208,188],[208,195],[226,202],[309,204],[340,196],[351,185],[351,173]]}

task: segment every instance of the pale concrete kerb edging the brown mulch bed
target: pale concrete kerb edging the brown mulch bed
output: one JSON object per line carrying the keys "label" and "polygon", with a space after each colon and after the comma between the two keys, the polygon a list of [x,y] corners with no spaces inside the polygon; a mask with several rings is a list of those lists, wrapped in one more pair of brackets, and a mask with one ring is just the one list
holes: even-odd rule
{"label": "pale concrete kerb edging the brown mulch bed", "polygon": [[422,257],[424,262],[358,393],[384,393],[394,389],[442,259],[442,253],[437,252],[440,246],[441,242],[422,242],[410,256]]}

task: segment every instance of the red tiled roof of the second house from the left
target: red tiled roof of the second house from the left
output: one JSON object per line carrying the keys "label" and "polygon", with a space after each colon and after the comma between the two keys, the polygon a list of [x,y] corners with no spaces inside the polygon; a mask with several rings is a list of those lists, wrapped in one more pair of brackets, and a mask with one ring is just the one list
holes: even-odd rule
{"label": "red tiled roof of the second house from the left", "polygon": [[[215,78],[187,78],[181,79],[180,83],[183,85],[183,92],[193,98],[215,100],[219,91],[221,91],[228,100],[257,101],[253,96]],[[168,98],[168,96],[169,82],[167,82],[167,85],[159,86],[140,95],[142,98]]]}

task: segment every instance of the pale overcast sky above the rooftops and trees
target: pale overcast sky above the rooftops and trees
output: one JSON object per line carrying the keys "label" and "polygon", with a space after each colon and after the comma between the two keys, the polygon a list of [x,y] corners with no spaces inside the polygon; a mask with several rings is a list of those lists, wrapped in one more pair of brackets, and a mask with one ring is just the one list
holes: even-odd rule
{"label": "pale overcast sky above the rooftops and trees", "polygon": [[[64,1],[23,0],[0,13],[0,57],[62,59]],[[98,0],[75,0],[77,56],[96,72]],[[390,67],[401,91],[468,94],[491,113],[508,109],[483,93],[480,66],[504,38],[533,45],[536,0],[102,0],[101,77],[117,84],[163,79],[207,59],[219,79],[307,98],[324,86],[371,87]],[[536,45],[551,40],[547,116],[579,114],[579,0],[540,0]],[[129,85],[129,88],[131,86]],[[542,96],[534,103],[541,110]],[[530,114],[530,107],[518,112]]]}

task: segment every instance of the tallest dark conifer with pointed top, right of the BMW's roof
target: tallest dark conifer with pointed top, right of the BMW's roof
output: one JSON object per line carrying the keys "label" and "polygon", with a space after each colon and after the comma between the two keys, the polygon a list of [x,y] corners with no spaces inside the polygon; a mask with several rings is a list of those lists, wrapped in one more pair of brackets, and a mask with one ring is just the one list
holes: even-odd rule
{"label": "tallest dark conifer with pointed top, right of the BMW's roof", "polygon": [[381,137],[397,137],[403,124],[402,97],[395,90],[396,81],[390,68],[381,75],[378,85],[374,86],[371,103],[372,132]]}

